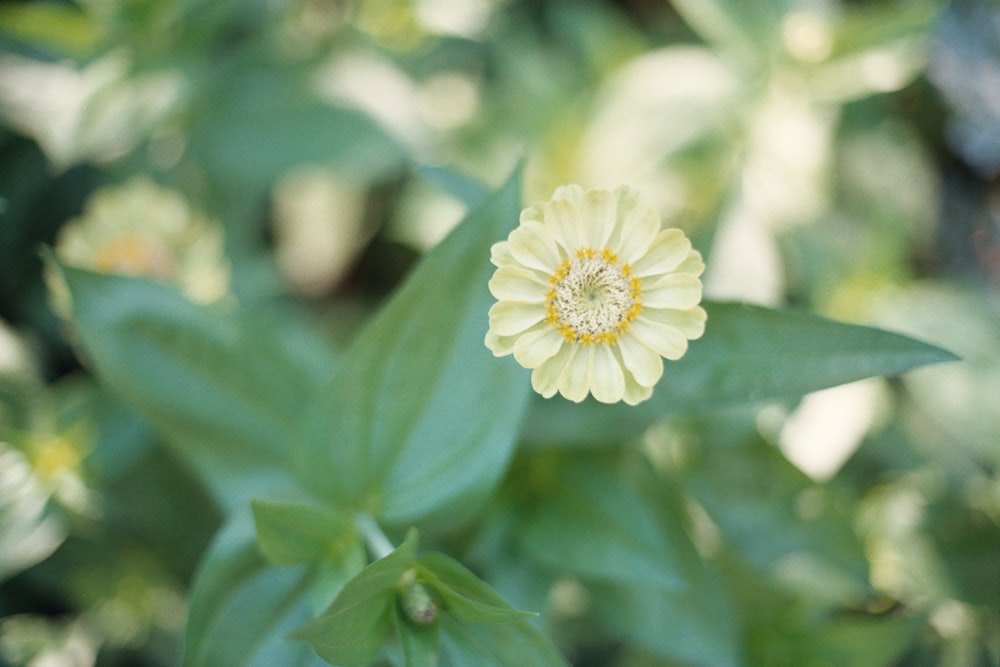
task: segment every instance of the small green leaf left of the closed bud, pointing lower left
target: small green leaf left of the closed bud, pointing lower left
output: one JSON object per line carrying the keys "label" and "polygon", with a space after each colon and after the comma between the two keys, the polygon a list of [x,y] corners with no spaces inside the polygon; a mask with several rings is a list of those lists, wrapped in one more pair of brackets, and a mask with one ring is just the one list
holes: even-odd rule
{"label": "small green leaf left of the closed bud, pointing lower left", "polygon": [[358,573],[323,615],[293,636],[331,664],[364,667],[388,638],[400,580],[416,555],[417,534],[410,531],[395,551]]}

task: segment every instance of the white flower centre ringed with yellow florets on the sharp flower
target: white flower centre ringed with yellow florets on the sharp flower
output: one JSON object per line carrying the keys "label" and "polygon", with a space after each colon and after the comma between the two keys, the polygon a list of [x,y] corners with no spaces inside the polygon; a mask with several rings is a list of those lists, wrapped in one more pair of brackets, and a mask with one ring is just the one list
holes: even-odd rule
{"label": "white flower centre ringed with yellow florets on the sharp flower", "polygon": [[618,256],[581,248],[549,276],[545,321],[571,343],[610,344],[642,312],[642,283]]}

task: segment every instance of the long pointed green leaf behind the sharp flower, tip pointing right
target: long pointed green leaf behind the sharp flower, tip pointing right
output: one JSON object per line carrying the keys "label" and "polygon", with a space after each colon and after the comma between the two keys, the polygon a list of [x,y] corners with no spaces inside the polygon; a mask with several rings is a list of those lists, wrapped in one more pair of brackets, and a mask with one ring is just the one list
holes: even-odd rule
{"label": "long pointed green leaf behind the sharp flower, tip pointing right", "polygon": [[798,398],[957,359],[906,336],[809,313],[728,302],[704,306],[705,335],[680,360],[665,364],[648,401],[630,407],[538,399],[524,437],[539,444],[621,442],[669,414]]}

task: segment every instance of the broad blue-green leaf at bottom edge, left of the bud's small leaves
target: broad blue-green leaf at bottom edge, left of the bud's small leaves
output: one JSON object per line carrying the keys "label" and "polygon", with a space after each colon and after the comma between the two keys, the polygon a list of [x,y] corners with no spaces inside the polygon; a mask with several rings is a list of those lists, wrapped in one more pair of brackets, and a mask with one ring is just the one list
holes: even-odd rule
{"label": "broad blue-green leaf at bottom edge, left of the bud's small leaves", "polygon": [[320,667],[305,644],[289,641],[312,613],[312,576],[275,568],[261,556],[249,517],[220,531],[191,591],[183,667]]}

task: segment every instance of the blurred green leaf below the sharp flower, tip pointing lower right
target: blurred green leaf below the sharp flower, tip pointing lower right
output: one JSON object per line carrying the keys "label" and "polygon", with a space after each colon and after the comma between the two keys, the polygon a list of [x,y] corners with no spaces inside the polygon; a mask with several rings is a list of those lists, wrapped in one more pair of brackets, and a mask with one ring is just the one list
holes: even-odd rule
{"label": "blurred green leaf below the sharp flower, tip pointing lower right", "polygon": [[615,466],[614,461],[580,458],[554,466],[523,520],[524,549],[560,572],[683,588],[673,536]]}

